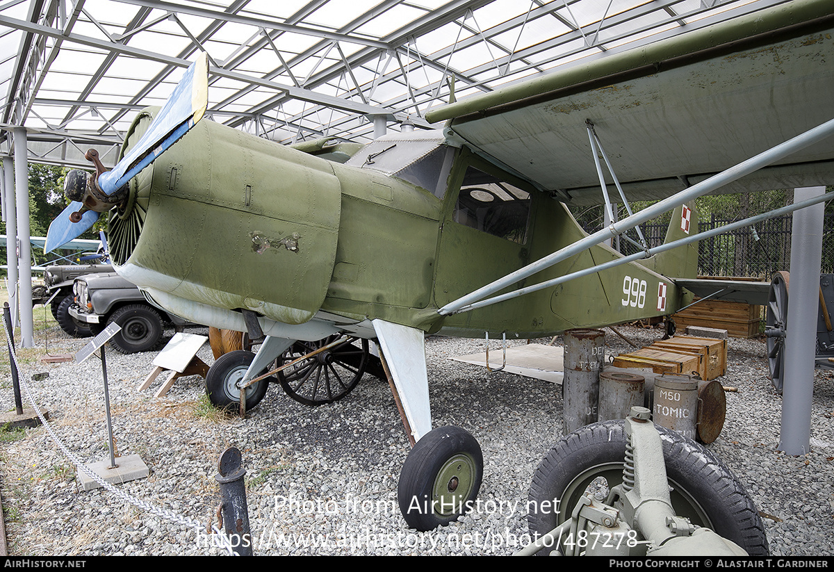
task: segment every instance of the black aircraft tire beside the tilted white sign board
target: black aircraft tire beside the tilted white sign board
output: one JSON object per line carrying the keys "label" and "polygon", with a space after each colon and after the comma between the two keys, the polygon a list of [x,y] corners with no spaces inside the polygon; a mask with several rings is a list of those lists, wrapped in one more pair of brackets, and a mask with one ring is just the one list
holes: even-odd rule
{"label": "black aircraft tire beside the tilted white sign board", "polygon": [[[206,394],[208,400],[219,409],[237,411],[240,405],[240,389],[235,384],[244,377],[255,354],[245,349],[236,349],[221,355],[208,368],[206,374]],[[253,409],[264,399],[269,382],[274,378],[261,379],[246,389],[246,410]]]}

